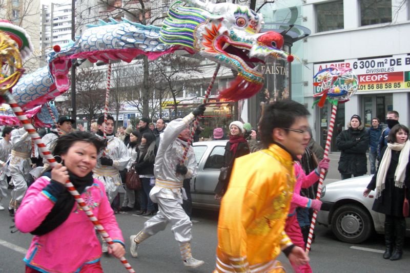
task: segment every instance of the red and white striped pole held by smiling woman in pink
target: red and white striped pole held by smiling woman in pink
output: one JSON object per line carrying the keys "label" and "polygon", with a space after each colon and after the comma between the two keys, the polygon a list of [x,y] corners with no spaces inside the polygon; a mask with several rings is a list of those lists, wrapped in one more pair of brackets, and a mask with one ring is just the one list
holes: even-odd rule
{"label": "red and white striped pole held by smiling woman in pink", "polygon": [[[23,123],[24,129],[26,129],[26,131],[30,134],[31,138],[35,141],[43,157],[47,159],[50,166],[54,167],[55,164],[57,163],[55,161],[55,158],[51,155],[50,151],[47,149],[47,146],[44,144],[42,138],[35,131],[35,128],[30,123],[29,119],[23,112],[22,108],[18,106],[17,102],[15,101],[11,93],[8,91],[4,92],[3,98],[10,105],[11,109],[13,109],[13,112],[17,116],[17,118]],[[83,211],[87,214],[88,218],[94,224],[95,228],[98,230],[98,232],[107,242],[107,244],[112,248],[114,242],[112,241],[112,239],[110,238],[110,236],[108,235],[104,227],[100,224],[98,219],[94,216],[91,209],[84,202],[83,198],[81,198],[80,194],[77,192],[77,190],[75,189],[74,185],[70,182],[70,180],[66,181],[66,187],[67,187],[67,190],[70,192],[70,194],[74,196],[75,201],[77,201],[77,203],[81,206]],[[121,257],[119,258],[119,260],[128,270],[128,272],[135,273],[134,269],[132,269],[131,265],[128,263],[125,257]]]}

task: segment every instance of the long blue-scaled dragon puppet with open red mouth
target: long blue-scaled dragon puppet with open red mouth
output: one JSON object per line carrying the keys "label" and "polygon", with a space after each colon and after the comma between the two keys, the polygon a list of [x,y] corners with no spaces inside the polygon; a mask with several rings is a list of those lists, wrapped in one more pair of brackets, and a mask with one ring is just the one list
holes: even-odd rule
{"label": "long blue-scaled dragon puppet with open red mouth", "polygon": [[260,32],[262,15],[248,7],[185,0],[175,2],[168,15],[161,28],[125,19],[89,26],[74,43],[50,52],[48,66],[22,77],[12,89],[13,97],[29,110],[64,93],[70,86],[68,74],[74,59],[130,62],[140,54],[155,59],[185,50],[237,71],[220,96],[239,100],[262,88],[262,68],[269,58],[293,60],[281,50],[282,35]]}

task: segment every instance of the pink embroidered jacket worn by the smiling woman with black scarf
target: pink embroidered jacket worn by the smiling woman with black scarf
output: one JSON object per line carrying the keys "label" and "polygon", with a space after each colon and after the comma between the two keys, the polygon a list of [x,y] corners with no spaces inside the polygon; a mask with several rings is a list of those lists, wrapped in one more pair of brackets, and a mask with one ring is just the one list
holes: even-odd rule
{"label": "pink embroidered jacket worn by the smiling woman with black scarf", "polygon": [[[20,232],[32,232],[51,211],[56,197],[45,189],[48,184],[50,179],[43,176],[28,188],[15,215],[15,224]],[[111,239],[124,245],[103,183],[94,179],[93,185],[87,187],[81,197]],[[94,225],[75,203],[63,224],[45,235],[33,237],[24,261],[27,266],[41,272],[68,273],[79,271],[84,264],[98,262],[100,257],[101,245]]]}

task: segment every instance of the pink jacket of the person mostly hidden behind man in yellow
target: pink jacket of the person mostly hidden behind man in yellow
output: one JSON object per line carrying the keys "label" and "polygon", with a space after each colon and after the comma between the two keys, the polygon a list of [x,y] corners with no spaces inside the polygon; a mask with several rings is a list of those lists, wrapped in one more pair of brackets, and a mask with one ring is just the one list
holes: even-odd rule
{"label": "pink jacket of the person mostly hidden behind man in yellow", "polygon": [[302,166],[299,162],[295,162],[295,164],[293,164],[293,167],[295,169],[296,183],[292,195],[291,207],[289,208],[288,216],[293,216],[295,214],[297,207],[311,207],[312,200],[308,197],[301,196],[300,189],[308,188],[311,185],[313,185],[315,182],[318,181],[320,175],[316,172],[316,169],[309,175],[305,175]]}

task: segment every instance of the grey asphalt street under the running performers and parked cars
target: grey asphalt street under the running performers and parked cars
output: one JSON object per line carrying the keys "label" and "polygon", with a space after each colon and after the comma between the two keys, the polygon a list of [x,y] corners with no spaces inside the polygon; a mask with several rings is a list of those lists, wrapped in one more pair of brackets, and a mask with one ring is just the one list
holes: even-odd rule
{"label": "grey asphalt street under the running performers and parked cars", "polygon": [[[331,154],[331,167],[325,184],[339,180],[337,172],[338,154]],[[135,212],[134,212],[135,213]],[[218,212],[194,209],[192,253],[205,264],[196,269],[187,269],[182,265],[179,247],[171,227],[142,242],[138,258],[129,254],[129,237],[136,234],[149,217],[137,216],[133,212],[116,215],[117,221],[126,242],[126,258],[138,273],[178,273],[178,272],[212,272],[215,265],[215,249],[217,246],[216,226]],[[7,211],[0,212],[0,273],[24,272],[22,259],[30,245],[30,234],[11,233],[15,228]],[[410,238],[406,238],[403,259],[389,261],[382,258],[384,250],[383,236],[375,235],[362,244],[340,242],[331,230],[318,225],[315,229],[316,240],[309,256],[314,272],[409,272]],[[67,249],[67,255],[75,249]],[[281,255],[279,260],[288,272],[292,272],[289,262]],[[104,256],[101,259],[104,271],[108,273],[127,272],[119,260]]]}

